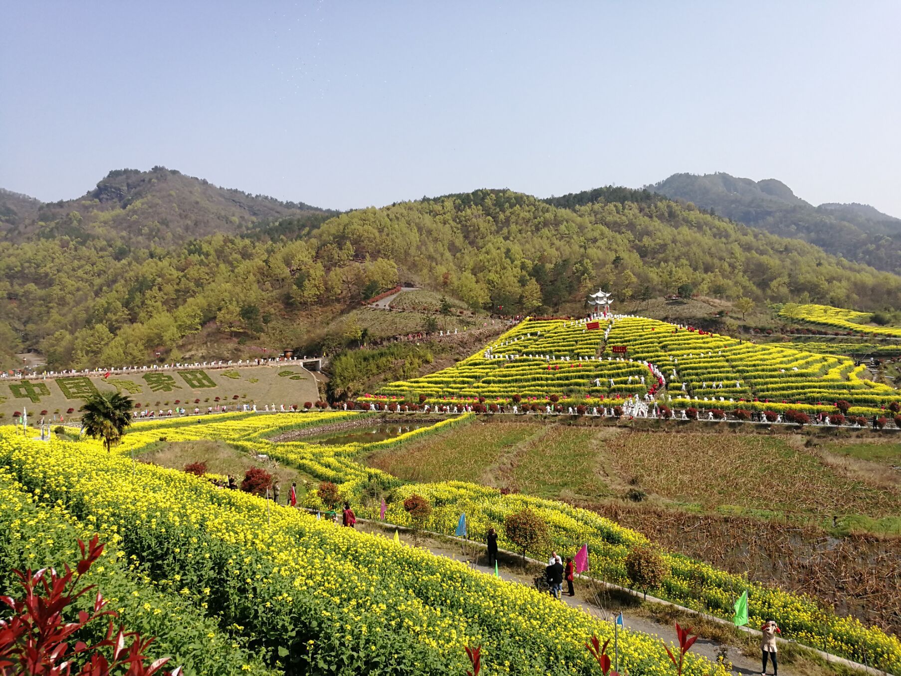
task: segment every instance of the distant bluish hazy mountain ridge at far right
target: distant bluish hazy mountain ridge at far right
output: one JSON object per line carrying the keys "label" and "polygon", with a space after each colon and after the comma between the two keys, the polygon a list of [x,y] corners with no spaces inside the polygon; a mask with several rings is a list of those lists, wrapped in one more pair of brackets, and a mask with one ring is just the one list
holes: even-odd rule
{"label": "distant bluish hazy mountain ridge at far right", "polygon": [[811,242],[847,260],[901,270],[901,219],[872,206],[814,206],[774,178],[754,181],[725,173],[673,174],[649,188],[738,223]]}

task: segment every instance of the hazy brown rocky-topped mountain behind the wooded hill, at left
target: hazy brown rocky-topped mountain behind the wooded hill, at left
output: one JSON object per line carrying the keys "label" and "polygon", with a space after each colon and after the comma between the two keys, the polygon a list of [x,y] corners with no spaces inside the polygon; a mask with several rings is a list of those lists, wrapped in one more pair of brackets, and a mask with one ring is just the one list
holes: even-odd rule
{"label": "hazy brown rocky-topped mountain behind the wooded hill, at left", "polygon": [[[0,196],[0,221],[3,216]],[[288,216],[322,213],[304,203],[249,195],[175,169],[115,169],[77,199],[38,203],[5,222],[6,239],[104,239],[117,246],[172,246],[215,233],[238,234]]]}

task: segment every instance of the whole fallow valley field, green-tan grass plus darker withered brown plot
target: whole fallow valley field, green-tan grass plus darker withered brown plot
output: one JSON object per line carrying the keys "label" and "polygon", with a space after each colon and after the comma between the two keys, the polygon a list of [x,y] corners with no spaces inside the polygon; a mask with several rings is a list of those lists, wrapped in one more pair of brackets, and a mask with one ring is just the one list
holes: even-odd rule
{"label": "whole fallow valley field, green-tan grass plus darker withered brown plot", "polygon": [[[901,476],[895,483],[885,480],[888,465],[901,459],[901,446],[829,443],[826,452],[799,441],[789,435],[476,422],[367,461],[405,480],[477,481],[562,498],[672,551],[901,630],[901,601],[894,593],[901,539],[842,534],[878,525],[901,534],[901,523],[890,516],[901,506]],[[887,464],[880,476],[869,465],[835,462],[842,451]],[[634,503],[622,498],[629,489],[651,495]],[[877,523],[855,510],[889,516]],[[837,527],[815,525],[832,526],[834,513],[846,515]],[[808,519],[812,523],[798,523]]]}

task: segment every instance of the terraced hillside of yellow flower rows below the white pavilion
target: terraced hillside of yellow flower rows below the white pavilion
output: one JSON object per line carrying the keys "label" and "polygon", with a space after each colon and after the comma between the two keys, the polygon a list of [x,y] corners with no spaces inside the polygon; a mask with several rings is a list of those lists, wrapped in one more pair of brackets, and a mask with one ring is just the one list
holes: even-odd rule
{"label": "terraced hillside of yellow flower rows below the white pavilion", "polygon": [[546,402],[556,396],[590,407],[659,393],[664,385],[667,401],[677,407],[762,410],[786,404],[829,410],[839,399],[878,408],[899,398],[895,388],[868,379],[865,367],[846,357],[758,345],[642,317],[616,318],[595,330],[585,320],[527,319],[449,369],[390,383],[375,397],[362,398],[415,401],[424,395],[441,404],[473,397],[510,403],[516,395]]}

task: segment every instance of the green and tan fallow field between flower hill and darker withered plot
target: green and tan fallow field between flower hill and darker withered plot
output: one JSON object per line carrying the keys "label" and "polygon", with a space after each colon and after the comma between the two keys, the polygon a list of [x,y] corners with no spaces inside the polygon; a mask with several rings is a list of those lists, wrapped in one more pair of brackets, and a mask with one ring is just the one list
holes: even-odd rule
{"label": "green and tan fallow field between flower hill and darker withered plot", "polygon": [[589,501],[638,488],[661,507],[824,525],[837,516],[901,533],[895,483],[837,464],[788,436],[477,423],[402,452],[378,452],[369,463],[404,480],[468,480]]}

